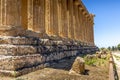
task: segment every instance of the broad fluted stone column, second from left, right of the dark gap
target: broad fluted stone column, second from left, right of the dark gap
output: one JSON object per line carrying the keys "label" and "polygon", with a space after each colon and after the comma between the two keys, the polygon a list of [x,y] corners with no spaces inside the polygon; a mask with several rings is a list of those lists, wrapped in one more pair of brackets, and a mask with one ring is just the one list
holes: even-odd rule
{"label": "broad fluted stone column, second from left, right of the dark gap", "polygon": [[28,0],[28,30],[45,34],[45,1]]}

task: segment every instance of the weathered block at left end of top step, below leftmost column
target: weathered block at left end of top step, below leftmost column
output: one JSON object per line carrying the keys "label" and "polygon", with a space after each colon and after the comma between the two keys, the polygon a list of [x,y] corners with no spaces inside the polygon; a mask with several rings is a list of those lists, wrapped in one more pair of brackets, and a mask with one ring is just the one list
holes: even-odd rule
{"label": "weathered block at left end of top step, below leftmost column", "polygon": [[0,44],[12,44],[12,45],[37,45],[38,39],[34,37],[11,37],[2,36],[0,37]]}

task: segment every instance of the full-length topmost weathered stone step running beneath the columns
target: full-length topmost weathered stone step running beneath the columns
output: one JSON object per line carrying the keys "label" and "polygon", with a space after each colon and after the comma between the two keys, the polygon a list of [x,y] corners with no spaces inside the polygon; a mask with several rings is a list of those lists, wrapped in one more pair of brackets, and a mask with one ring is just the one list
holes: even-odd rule
{"label": "full-length topmost weathered stone step running beneath the columns", "polygon": [[0,36],[0,44],[14,44],[14,45],[80,45],[79,42],[71,42],[64,40],[50,40],[41,39],[35,37],[12,37],[12,36]]}

